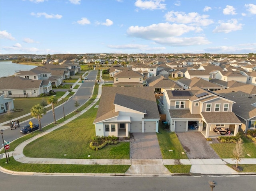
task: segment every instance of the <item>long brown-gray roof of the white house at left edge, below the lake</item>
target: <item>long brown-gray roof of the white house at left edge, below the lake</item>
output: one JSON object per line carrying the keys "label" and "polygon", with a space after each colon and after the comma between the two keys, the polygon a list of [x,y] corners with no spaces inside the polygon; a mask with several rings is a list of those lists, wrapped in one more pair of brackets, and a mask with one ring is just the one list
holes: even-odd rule
{"label": "long brown-gray roof of the white house at left edge, below the lake", "polygon": [[15,89],[38,89],[43,80],[32,80],[22,77],[1,77],[1,90],[15,90]]}

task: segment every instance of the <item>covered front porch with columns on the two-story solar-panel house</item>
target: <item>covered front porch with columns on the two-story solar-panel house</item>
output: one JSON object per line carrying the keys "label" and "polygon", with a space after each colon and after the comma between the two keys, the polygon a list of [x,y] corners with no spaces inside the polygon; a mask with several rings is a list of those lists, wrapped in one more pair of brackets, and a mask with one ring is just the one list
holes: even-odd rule
{"label": "covered front porch with columns on the two-story solar-panel house", "polygon": [[214,132],[216,126],[230,130],[229,136],[236,136],[241,121],[233,112],[201,112],[203,126],[200,131],[205,138],[228,136],[228,134],[217,134]]}

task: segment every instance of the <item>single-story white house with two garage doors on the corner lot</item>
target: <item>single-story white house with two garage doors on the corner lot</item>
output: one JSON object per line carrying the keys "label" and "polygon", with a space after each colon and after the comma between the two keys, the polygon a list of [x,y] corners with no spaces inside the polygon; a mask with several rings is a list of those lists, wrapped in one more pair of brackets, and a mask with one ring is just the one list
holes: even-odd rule
{"label": "single-story white house with two garage doors on the corner lot", "polygon": [[152,87],[103,87],[96,136],[128,137],[129,132],[158,132],[160,120]]}

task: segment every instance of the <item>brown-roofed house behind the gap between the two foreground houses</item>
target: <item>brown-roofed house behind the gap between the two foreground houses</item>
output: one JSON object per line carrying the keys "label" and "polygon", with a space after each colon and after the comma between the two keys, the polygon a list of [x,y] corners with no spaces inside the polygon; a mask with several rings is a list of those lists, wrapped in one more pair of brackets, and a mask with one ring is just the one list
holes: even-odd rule
{"label": "brown-roofed house behind the gap between the two foreground houses", "polygon": [[146,86],[154,88],[155,93],[162,93],[165,90],[180,90],[182,87],[174,81],[162,76],[157,75],[146,79]]}

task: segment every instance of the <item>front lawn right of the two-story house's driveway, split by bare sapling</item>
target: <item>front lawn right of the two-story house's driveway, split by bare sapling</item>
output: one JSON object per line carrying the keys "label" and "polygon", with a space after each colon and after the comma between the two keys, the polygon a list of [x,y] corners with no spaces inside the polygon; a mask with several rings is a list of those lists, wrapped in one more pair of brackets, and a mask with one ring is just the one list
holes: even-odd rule
{"label": "front lawn right of the two-story house's driveway, split by bare sapling", "polygon": [[[256,144],[248,140],[244,135],[242,135],[244,141],[244,158],[256,158]],[[211,144],[215,152],[220,156],[220,158],[233,158],[233,149],[235,143],[218,143]],[[249,157],[247,154],[250,154]]]}

